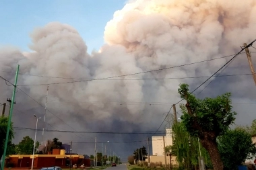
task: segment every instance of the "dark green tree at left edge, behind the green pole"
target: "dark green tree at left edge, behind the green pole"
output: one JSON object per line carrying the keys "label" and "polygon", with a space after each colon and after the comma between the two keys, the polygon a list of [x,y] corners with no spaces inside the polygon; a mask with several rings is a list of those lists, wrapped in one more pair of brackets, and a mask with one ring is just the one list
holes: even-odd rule
{"label": "dark green tree at left edge, behind the green pole", "polygon": [[[5,146],[5,136],[7,132],[7,126],[8,126],[8,117],[3,117],[0,116],[0,157],[3,155],[3,150]],[[11,140],[14,137],[14,132],[13,132],[13,124],[11,122],[11,127],[9,130],[9,138],[8,138],[8,143],[7,143],[7,152],[6,155],[11,155],[13,152],[13,144],[11,143]]]}

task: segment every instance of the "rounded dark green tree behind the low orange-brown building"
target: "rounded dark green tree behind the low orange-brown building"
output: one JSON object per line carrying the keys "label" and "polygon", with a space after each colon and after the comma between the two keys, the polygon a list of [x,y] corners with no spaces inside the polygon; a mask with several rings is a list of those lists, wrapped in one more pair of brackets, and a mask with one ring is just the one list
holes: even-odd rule
{"label": "rounded dark green tree behind the low orange-brown building", "polygon": [[[30,136],[25,136],[17,145],[17,153],[22,155],[32,155],[34,140]],[[35,148],[36,149],[36,148]]]}

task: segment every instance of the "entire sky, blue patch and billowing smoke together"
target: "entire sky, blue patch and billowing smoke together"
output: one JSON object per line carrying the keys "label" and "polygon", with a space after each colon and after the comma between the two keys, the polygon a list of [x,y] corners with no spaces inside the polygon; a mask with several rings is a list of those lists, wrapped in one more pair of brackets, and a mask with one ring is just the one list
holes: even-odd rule
{"label": "entire sky, blue patch and billowing smoke together", "polygon": [[[111,151],[122,150],[126,159],[156,135],[134,132],[164,132],[168,127],[164,118],[181,100],[179,84],[188,83],[192,91],[243,43],[255,39],[256,1],[234,1],[133,0],[125,5],[121,0],[0,0],[0,75],[13,82],[20,65],[22,91],[15,97],[13,142],[34,137],[33,115],[43,118],[50,84],[46,123],[52,131],[38,134],[39,141],[53,136],[66,143],[73,140],[73,151],[90,155],[97,137],[98,142],[110,141],[106,147]],[[232,76],[214,77],[195,94],[204,98],[231,92],[236,125],[250,125],[256,91],[248,73],[243,53],[219,72]],[[0,103],[11,97],[13,87],[8,85],[0,79]],[[179,104],[177,113],[182,114]],[[38,128],[43,126],[40,121]]]}

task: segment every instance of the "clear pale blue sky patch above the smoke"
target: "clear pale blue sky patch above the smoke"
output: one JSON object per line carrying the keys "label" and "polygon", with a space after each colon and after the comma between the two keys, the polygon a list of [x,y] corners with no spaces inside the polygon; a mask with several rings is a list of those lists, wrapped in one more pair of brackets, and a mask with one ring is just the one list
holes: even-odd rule
{"label": "clear pale blue sky patch above the smoke", "polygon": [[30,33],[49,22],[73,26],[88,46],[88,52],[104,44],[106,23],[127,0],[0,0],[0,46],[17,46],[30,51]]}

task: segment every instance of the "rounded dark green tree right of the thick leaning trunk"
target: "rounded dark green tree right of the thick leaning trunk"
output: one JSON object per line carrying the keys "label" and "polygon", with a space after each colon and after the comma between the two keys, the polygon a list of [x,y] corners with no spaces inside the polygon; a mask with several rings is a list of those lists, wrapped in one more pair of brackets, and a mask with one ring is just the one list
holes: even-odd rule
{"label": "rounded dark green tree right of the thick leaning trunk", "polygon": [[252,159],[256,155],[251,134],[244,128],[228,130],[226,134],[218,137],[218,148],[227,170],[237,169],[245,159]]}

